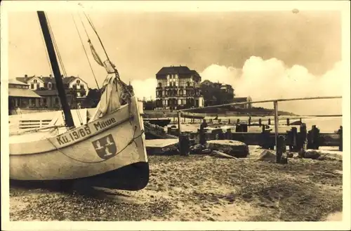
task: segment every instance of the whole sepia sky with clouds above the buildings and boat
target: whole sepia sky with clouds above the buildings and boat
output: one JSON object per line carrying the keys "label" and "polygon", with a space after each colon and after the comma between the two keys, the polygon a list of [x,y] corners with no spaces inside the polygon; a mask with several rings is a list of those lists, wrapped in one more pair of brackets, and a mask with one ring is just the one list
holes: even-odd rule
{"label": "whole sepia sky with clouds above the buildings and boat", "polygon": [[[117,66],[139,98],[155,98],[155,74],[187,65],[202,80],[232,84],[253,100],[342,95],[341,19],[337,11],[89,12]],[[47,12],[67,75],[96,84],[77,28],[101,85],[105,70],[92,58],[88,37],[105,55],[83,14]],[[74,22],[77,24],[75,27]],[[86,32],[84,32],[84,23]],[[9,77],[51,74],[37,13],[9,13]],[[303,114],[339,114],[341,100],[284,103]],[[260,106],[260,105],[258,105]],[[328,111],[328,112],[326,112]]]}

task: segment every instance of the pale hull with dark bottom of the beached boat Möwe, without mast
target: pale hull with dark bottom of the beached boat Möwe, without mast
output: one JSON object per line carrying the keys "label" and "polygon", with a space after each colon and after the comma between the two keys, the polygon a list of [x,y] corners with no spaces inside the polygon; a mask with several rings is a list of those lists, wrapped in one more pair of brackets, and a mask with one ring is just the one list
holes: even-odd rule
{"label": "pale hull with dark bottom of the beached boat M\u00f6we, without mast", "polygon": [[[90,178],[112,188],[140,189],[149,178],[143,129],[137,102],[132,98],[130,105],[59,136],[11,143],[10,178],[33,181]],[[134,181],[123,183],[117,180],[120,174],[126,179],[129,176],[124,174],[131,174]]]}

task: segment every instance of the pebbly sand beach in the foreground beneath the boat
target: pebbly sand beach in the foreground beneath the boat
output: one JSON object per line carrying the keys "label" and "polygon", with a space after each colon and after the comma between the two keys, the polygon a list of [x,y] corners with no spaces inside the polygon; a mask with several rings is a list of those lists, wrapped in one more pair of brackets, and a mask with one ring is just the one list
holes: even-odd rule
{"label": "pebbly sand beach in the foreground beneath the boat", "polygon": [[[57,192],[11,186],[11,220],[340,220],[342,156],[290,158],[289,164],[245,159],[150,155],[145,189],[75,188]],[[338,153],[338,152],[336,152]],[[83,192],[82,192],[83,191]]]}

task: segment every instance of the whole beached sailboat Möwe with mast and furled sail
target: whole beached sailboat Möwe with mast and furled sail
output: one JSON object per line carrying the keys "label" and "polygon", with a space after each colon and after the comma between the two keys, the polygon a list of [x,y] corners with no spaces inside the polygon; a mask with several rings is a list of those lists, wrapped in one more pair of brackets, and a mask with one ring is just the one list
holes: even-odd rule
{"label": "whole beached sailboat M\u00f6we with mast and furled sail", "polygon": [[96,187],[143,189],[149,181],[149,164],[138,100],[121,81],[108,56],[101,62],[90,44],[94,59],[105,67],[107,77],[98,106],[84,110],[88,121],[74,123],[46,13],[37,11],[37,15],[57,84],[64,125],[51,118],[53,122],[44,128],[10,136],[10,179],[27,182],[86,179]]}

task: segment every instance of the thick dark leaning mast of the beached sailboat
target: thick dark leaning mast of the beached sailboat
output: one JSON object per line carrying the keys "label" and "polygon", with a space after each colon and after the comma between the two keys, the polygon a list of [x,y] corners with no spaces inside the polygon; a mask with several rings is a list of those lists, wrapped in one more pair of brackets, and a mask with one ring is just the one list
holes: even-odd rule
{"label": "thick dark leaning mast of the beached sailboat", "polygon": [[55,49],[53,47],[53,41],[51,39],[51,34],[48,29],[46,15],[44,11],[37,11],[37,13],[41,26],[41,31],[44,35],[46,49],[48,50],[48,56],[50,58],[51,68],[53,70],[53,76],[55,77],[56,86],[58,88],[58,96],[60,97],[63,113],[65,114],[65,125],[69,128],[72,128],[74,127],[74,122],[71,114],[71,109],[69,108],[69,105],[67,103],[65,88],[63,86],[63,81],[60,73],[60,67],[58,66],[58,59],[56,58]]}

